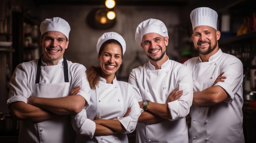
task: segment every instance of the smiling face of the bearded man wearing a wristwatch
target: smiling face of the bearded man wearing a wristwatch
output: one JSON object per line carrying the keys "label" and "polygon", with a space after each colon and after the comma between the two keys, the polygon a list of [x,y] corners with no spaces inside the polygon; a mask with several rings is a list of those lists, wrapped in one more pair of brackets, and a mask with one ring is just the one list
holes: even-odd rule
{"label": "smiling face of the bearded man wearing a wristwatch", "polygon": [[147,33],[142,37],[141,47],[151,61],[157,62],[166,54],[168,37],[157,33]]}

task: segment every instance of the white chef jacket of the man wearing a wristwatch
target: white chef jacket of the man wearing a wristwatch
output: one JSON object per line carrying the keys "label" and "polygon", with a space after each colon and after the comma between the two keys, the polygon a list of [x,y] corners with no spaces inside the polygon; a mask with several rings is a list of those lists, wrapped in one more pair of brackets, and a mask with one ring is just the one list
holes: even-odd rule
{"label": "white chef jacket of the man wearing a wristwatch", "polygon": [[[144,66],[132,69],[128,82],[137,91],[138,101],[149,100],[166,103],[168,95],[179,86],[183,95],[172,102],[168,108],[172,119],[155,124],[137,124],[136,143],[188,143],[188,127],[186,115],[193,101],[193,85],[189,69],[168,59],[161,69],[148,62]],[[150,103],[149,103],[150,104]]]}

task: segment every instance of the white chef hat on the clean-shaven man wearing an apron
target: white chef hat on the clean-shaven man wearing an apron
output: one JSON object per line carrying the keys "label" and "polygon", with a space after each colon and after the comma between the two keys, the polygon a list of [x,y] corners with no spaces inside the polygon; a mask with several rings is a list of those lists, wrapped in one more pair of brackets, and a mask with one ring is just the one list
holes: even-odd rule
{"label": "white chef hat on the clean-shaven man wearing an apron", "polygon": [[61,32],[67,37],[67,40],[68,40],[69,33],[70,33],[70,24],[68,24],[66,20],[59,17],[45,19],[40,24],[41,36],[48,31]]}

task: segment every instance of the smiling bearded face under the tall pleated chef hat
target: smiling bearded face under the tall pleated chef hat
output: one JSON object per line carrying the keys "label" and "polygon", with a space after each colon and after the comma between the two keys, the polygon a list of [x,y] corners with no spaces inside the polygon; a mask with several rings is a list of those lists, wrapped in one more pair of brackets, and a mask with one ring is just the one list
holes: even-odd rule
{"label": "smiling bearded face under the tall pleated chef hat", "polygon": [[193,30],[192,40],[200,55],[213,55],[218,51],[220,31],[211,26],[197,26]]}

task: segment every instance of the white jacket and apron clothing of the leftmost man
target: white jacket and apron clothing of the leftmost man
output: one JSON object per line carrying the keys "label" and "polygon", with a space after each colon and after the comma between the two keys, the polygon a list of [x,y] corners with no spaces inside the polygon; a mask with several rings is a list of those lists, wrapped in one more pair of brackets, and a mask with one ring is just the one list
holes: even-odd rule
{"label": "white jacket and apron clothing of the leftmost man", "polygon": [[[27,103],[29,97],[65,97],[80,86],[78,93],[90,105],[90,86],[86,78],[86,68],[67,61],[69,82],[64,81],[63,59],[57,65],[47,66],[43,61],[40,68],[40,82],[36,82],[38,59],[19,64],[11,77],[7,104],[17,101]],[[43,89],[45,90],[38,90]],[[72,143],[76,132],[72,128],[70,115],[63,115],[41,122],[20,121],[19,142],[22,143]]]}

